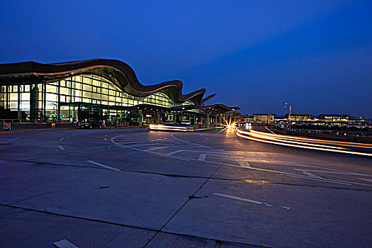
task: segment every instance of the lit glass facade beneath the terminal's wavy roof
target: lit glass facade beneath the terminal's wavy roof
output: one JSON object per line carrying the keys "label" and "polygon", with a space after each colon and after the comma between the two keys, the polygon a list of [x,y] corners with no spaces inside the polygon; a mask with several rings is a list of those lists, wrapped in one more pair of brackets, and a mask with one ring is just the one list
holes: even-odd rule
{"label": "lit glass facade beneath the terminal's wavy roof", "polygon": [[162,92],[145,97],[131,96],[96,75],[2,85],[0,88],[0,106],[10,110],[11,118],[16,119],[59,120],[68,123],[102,118],[125,120],[137,118],[137,111],[130,107],[140,104],[163,108],[193,105],[191,101],[174,103]]}

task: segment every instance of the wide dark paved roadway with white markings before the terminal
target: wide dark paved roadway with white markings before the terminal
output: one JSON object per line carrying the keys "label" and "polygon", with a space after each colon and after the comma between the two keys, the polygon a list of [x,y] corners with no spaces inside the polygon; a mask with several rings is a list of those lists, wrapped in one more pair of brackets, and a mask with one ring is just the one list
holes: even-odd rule
{"label": "wide dark paved roadway with white markings before the terminal", "polygon": [[372,159],[234,130],[0,134],[0,247],[372,247]]}

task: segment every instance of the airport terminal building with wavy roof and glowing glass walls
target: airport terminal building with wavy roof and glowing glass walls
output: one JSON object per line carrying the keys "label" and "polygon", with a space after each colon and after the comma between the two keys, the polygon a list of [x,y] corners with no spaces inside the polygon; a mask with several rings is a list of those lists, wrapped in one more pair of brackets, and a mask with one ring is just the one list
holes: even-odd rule
{"label": "airport terminal building with wavy roof and glowing glass walls", "polygon": [[0,119],[81,123],[175,123],[222,125],[237,109],[204,106],[215,94],[205,89],[182,94],[181,81],[145,86],[134,70],[118,60],[60,64],[0,64]]}

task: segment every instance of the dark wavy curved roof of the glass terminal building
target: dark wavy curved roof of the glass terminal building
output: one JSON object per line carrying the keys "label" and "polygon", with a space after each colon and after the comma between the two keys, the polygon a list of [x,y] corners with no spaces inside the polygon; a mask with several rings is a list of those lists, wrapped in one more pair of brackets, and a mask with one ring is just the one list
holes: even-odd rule
{"label": "dark wavy curved roof of the glass terminal building", "polygon": [[132,96],[149,96],[154,92],[163,92],[175,103],[190,100],[196,105],[201,105],[215,96],[214,94],[203,98],[205,89],[198,89],[184,95],[182,94],[183,84],[179,80],[145,86],[138,81],[135,71],[119,60],[94,59],[60,64],[38,62],[0,64],[0,82],[49,81],[81,74],[94,74],[108,79]]}

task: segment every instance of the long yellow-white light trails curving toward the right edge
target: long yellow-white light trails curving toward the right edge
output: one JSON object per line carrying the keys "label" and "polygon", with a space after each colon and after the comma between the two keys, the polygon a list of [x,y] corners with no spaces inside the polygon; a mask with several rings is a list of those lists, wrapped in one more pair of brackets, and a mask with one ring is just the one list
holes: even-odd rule
{"label": "long yellow-white light trails curving toward the right edge", "polygon": [[[320,151],[326,151],[326,152],[341,152],[341,153],[346,153],[346,154],[356,154],[356,155],[372,157],[371,153],[354,152],[344,147],[316,144],[316,143],[324,144],[324,142],[327,140],[316,140],[316,139],[308,139],[308,138],[302,138],[302,137],[292,137],[292,136],[287,136],[287,135],[274,135],[271,133],[263,133],[263,132],[258,132],[254,130],[251,130],[251,132],[237,130],[237,136],[242,137],[244,139],[265,142],[265,143],[274,144],[274,145],[285,145],[288,147],[298,147],[298,148],[320,150]],[[292,141],[291,139],[295,141]],[[300,140],[304,140],[308,142],[301,142]],[[313,142],[315,144],[309,143],[309,142]],[[337,144],[337,145],[343,145],[343,146],[348,146],[348,147],[372,148],[372,145],[367,145],[367,144],[364,145],[364,144],[348,143],[348,142],[329,141],[327,142],[327,144],[334,144],[334,145]]]}

